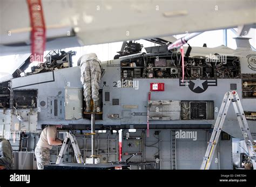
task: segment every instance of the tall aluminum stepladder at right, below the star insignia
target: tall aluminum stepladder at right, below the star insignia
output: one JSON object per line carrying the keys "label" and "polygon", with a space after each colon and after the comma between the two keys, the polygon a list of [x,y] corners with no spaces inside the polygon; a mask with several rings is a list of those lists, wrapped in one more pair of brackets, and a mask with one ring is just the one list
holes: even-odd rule
{"label": "tall aluminum stepladder at right, below the star insignia", "polygon": [[201,164],[200,169],[209,169],[215,148],[217,146],[219,136],[221,133],[221,130],[223,128],[223,124],[226,118],[226,114],[228,111],[228,107],[230,106],[230,103],[232,102],[235,114],[237,115],[238,123],[241,128],[242,136],[244,136],[244,140],[246,143],[246,147],[248,149],[248,154],[251,157],[251,161],[253,164],[253,168],[256,169],[256,155],[255,150],[253,148],[254,141],[252,138],[252,134],[249,130],[247,120],[245,118],[244,110],[242,109],[242,105],[238,96],[238,93],[236,91],[228,91],[225,93],[225,96],[223,98],[223,102],[220,106],[219,114],[217,117],[217,120],[215,122],[213,132],[211,135],[210,142],[208,144],[203,163]]}

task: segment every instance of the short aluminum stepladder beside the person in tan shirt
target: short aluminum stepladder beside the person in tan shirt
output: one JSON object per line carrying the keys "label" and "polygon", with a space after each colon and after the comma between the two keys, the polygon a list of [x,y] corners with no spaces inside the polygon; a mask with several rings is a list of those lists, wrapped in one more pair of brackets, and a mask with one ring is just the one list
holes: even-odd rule
{"label": "short aluminum stepladder beside the person in tan shirt", "polygon": [[63,157],[66,153],[66,149],[68,148],[69,144],[67,143],[68,139],[70,139],[70,142],[72,144],[72,147],[74,149],[74,153],[77,159],[77,163],[84,163],[83,157],[81,156],[80,149],[77,144],[76,136],[72,134],[72,132],[67,132],[66,137],[63,141],[62,148],[60,149],[56,164],[60,164],[63,162]]}

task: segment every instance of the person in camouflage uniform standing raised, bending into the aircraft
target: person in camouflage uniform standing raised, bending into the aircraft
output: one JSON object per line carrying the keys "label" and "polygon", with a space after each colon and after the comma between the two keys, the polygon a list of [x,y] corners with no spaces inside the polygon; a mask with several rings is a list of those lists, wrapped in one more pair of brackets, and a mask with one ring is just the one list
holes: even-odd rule
{"label": "person in camouflage uniform standing raised, bending into the aircraft", "polygon": [[[95,53],[85,54],[78,60],[81,70],[81,83],[84,87],[86,112],[91,112],[91,98],[93,99],[93,112],[99,112],[99,84],[102,76],[101,62]],[[98,108],[98,111],[97,111]]]}

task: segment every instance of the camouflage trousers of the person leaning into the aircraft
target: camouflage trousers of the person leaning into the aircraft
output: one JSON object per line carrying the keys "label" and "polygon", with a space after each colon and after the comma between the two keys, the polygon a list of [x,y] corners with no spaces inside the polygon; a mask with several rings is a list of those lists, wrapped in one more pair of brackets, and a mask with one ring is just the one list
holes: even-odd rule
{"label": "camouflage trousers of the person leaning into the aircraft", "polygon": [[81,83],[84,87],[85,100],[99,100],[99,84],[102,71],[96,60],[88,60],[81,67]]}

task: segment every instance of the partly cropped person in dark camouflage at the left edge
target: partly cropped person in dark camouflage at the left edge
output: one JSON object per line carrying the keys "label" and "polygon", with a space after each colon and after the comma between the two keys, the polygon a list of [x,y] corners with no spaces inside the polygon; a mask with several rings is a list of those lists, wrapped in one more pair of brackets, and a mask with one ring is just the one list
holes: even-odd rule
{"label": "partly cropped person in dark camouflage at the left edge", "polygon": [[14,169],[14,154],[9,140],[0,138],[0,169]]}

